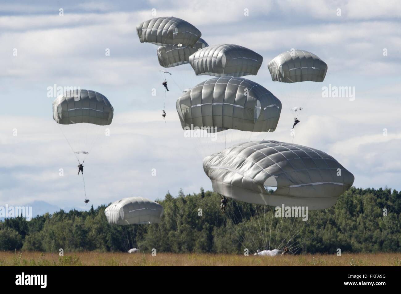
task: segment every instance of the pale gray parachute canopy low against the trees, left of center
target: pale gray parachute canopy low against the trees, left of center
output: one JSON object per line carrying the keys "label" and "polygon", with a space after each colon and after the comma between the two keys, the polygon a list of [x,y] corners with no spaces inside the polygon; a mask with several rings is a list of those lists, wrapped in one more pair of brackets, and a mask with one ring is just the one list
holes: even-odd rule
{"label": "pale gray parachute canopy low against the trees, left of center", "polygon": [[163,206],[142,197],[130,197],[113,202],[104,211],[109,224],[152,224],[160,222]]}

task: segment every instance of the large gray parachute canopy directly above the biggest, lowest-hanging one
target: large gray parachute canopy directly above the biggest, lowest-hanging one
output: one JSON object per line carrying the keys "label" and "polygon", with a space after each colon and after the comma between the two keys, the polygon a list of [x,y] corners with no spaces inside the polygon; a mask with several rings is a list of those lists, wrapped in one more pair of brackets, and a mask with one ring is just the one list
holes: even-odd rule
{"label": "large gray parachute canopy directly above the biggest, lowest-hanging one", "polygon": [[281,102],[263,86],[239,77],[212,78],[178,98],[182,128],[214,127],[251,132],[273,132]]}

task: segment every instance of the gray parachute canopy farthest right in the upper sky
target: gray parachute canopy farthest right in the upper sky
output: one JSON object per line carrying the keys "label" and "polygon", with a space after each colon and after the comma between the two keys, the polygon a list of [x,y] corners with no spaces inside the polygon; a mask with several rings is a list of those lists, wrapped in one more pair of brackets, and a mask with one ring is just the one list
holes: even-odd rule
{"label": "gray parachute canopy farthest right in the upper sky", "polygon": [[305,50],[286,51],[273,58],[269,65],[274,82],[323,82],[327,64],[315,54]]}

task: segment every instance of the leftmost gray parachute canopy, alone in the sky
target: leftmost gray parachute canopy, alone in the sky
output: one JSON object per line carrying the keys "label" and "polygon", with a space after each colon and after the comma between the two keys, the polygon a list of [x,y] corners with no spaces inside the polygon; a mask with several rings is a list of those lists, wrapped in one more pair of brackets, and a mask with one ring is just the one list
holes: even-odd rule
{"label": "leftmost gray parachute canopy, alone in the sky", "polygon": [[53,101],[53,119],[58,124],[87,122],[105,126],[113,120],[113,106],[92,90],[70,90]]}

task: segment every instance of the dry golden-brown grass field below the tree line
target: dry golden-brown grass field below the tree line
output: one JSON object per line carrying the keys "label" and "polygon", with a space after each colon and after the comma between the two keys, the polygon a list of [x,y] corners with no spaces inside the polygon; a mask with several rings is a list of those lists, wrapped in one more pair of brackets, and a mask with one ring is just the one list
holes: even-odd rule
{"label": "dry golden-brown grass field below the tree line", "polygon": [[76,252],[0,252],[0,266],[401,266],[400,253],[243,256]]}

